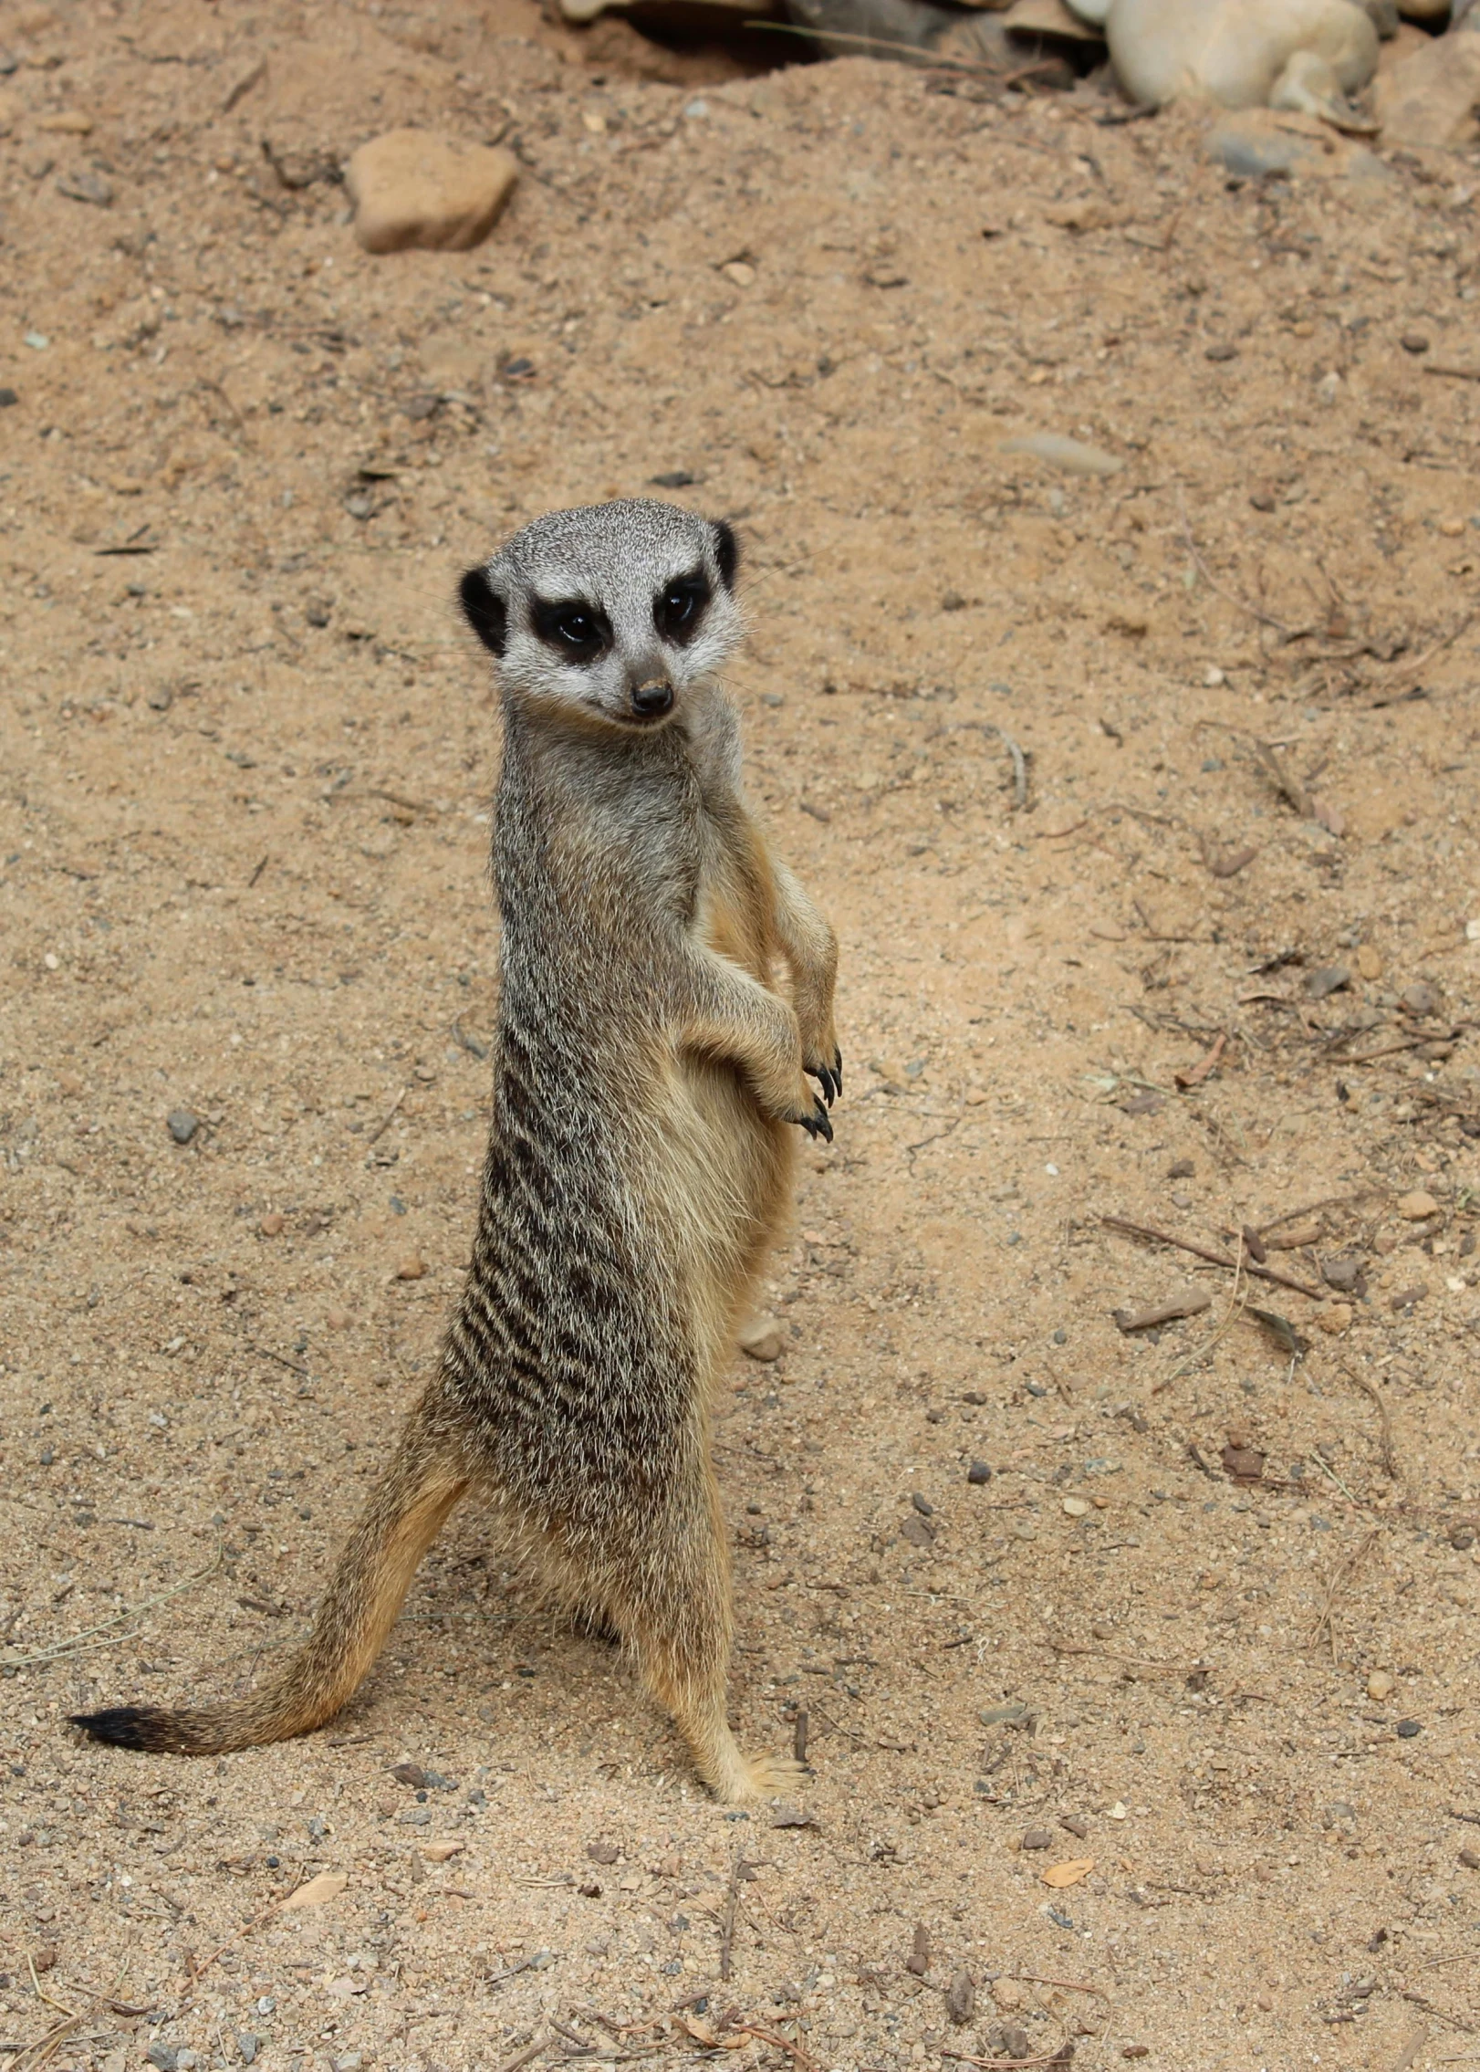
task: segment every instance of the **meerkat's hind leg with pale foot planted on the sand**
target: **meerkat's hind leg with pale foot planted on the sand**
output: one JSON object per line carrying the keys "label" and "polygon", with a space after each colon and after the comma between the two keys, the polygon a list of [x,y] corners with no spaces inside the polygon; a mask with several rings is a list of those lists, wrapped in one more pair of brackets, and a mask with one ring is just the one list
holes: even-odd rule
{"label": "meerkat's hind leg with pale foot planted on the sand", "polygon": [[693,1765],[724,1805],[766,1798],[801,1763],[745,1757],[727,1718],[731,1575],[714,1471],[685,1461],[633,1558],[613,1614],[638,1651],[652,1695],[667,1705]]}

